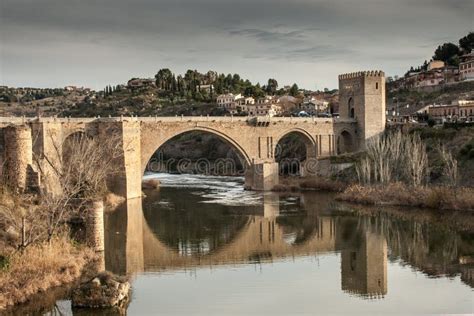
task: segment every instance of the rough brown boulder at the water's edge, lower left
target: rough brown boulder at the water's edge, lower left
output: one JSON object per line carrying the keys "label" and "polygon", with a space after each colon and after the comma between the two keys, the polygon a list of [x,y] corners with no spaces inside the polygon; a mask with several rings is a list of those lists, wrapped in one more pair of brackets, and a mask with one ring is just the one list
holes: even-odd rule
{"label": "rough brown boulder at the water's edge, lower left", "polygon": [[82,283],[72,292],[72,306],[81,308],[122,307],[128,304],[130,283],[109,272]]}

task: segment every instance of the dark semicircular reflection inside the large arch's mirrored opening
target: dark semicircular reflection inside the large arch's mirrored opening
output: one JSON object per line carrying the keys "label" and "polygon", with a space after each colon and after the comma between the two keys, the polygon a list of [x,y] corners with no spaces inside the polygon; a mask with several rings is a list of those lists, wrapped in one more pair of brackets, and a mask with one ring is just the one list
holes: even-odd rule
{"label": "dark semicircular reflection inside the large arch's mirrored opening", "polygon": [[173,205],[144,203],[147,224],[157,238],[180,254],[207,254],[232,241],[248,222],[248,216],[230,216],[228,207],[200,203],[199,197],[169,188]]}

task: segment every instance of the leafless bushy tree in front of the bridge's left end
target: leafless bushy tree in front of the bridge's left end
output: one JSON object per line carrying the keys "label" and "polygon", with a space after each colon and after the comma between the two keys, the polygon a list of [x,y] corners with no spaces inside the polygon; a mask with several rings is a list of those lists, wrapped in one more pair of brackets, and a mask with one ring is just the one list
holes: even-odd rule
{"label": "leafless bushy tree in front of the bridge's left end", "polygon": [[99,143],[95,138],[78,133],[60,144],[51,141],[54,152],[43,157],[46,164],[35,157],[41,175],[56,181],[53,191],[51,185],[41,187],[48,241],[67,218],[83,209],[85,203],[103,197],[107,192],[107,177],[117,172],[114,161],[122,154],[122,143],[115,137]]}

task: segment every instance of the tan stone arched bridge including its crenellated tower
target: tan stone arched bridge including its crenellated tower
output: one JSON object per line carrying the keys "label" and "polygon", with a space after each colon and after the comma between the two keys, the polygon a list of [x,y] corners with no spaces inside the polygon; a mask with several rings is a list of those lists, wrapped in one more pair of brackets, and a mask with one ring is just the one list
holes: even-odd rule
{"label": "tan stone arched bridge including its crenellated tower", "polygon": [[[14,185],[25,186],[25,167],[48,173],[49,161],[61,155],[61,144],[68,136],[82,132],[99,142],[116,142],[121,156],[115,159],[117,173],[109,187],[128,198],[141,196],[141,179],[153,154],[167,141],[190,131],[216,135],[227,142],[246,167],[245,182],[249,189],[270,190],[278,183],[275,150],[278,142],[297,133],[306,144],[306,162],[302,174],[318,173],[318,160],[346,151],[363,149],[365,142],[385,128],[385,79],[383,72],[361,72],[341,75],[340,118],[291,117],[147,117],[147,118],[0,118],[0,130],[25,128],[31,131],[31,150],[24,146],[3,146],[1,155],[8,170],[21,169]],[[16,144],[10,130],[3,134],[5,144]],[[21,139],[25,139],[22,137]],[[22,141],[22,144],[28,142]],[[17,151],[15,153],[8,150]],[[31,156],[36,159],[32,159]],[[203,157],[206,158],[206,157]],[[322,166],[322,165],[321,165]],[[46,170],[46,172],[44,172]],[[4,172],[5,173],[5,172]],[[8,173],[8,172],[7,172]],[[11,173],[11,172],[10,172]],[[47,177],[46,177],[47,178]],[[42,179],[43,185],[54,183],[54,177]]]}

